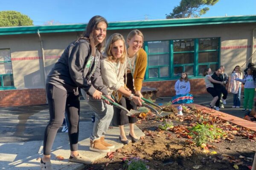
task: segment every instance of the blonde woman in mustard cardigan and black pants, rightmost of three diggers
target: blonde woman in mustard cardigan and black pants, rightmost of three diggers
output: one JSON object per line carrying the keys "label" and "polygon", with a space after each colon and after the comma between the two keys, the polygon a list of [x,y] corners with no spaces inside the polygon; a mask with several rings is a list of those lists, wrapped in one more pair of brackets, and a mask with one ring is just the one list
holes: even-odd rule
{"label": "blonde woman in mustard cardigan and black pants, rightmost of three diggers", "polygon": [[[127,74],[125,75],[126,90],[131,91],[132,94],[136,94],[141,98],[142,94],[140,90],[142,88],[142,82],[147,66],[147,54],[142,48],[143,34],[137,29],[132,30],[127,36],[127,46]],[[126,106],[128,110],[137,110],[137,105],[127,98],[125,100],[121,100],[119,104]],[[129,136],[131,137],[131,141],[137,142],[139,139],[134,133],[134,123],[137,122],[137,119],[126,116],[126,112],[118,108],[114,108],[114,111],[117,116],[117,125],[119,125],[121,142],[128,143],[128,139],[126,138],[124,131],[124,125],[128,123],[130,127]]]}

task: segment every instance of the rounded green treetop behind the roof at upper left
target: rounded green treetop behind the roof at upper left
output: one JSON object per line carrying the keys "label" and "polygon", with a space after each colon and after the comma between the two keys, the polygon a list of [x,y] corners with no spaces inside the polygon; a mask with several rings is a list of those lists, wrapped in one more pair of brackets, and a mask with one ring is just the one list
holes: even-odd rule
{"label": "rounded green treetop behind the roof at upper left", "polygon": [[0,11],[0,27],[33,26],[33,21],[17,11]]}

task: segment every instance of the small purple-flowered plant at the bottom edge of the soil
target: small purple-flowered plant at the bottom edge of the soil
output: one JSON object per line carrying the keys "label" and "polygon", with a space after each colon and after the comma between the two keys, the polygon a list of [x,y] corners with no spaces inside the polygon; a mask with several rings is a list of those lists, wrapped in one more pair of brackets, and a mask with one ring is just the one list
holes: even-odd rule
{"label": "small purple-flowered plant at the bottom edge of the soil", "polygon": [[138,157],[131,158],[130,160],[125,160],[123,164],[123,168],[125,170],[148,170],[149,167],[146,165],[145,160],[140,159]]}

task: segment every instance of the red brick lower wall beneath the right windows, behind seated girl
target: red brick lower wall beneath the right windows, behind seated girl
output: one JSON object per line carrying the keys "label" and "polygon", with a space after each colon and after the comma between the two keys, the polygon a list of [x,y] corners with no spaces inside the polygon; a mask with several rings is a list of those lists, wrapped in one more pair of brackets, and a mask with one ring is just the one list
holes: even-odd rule
{"label": "red brick lower wall beneath the right windows, behind seated girl", "polygon": [[[177,80],[143,82],[143,86],[157,88],[157,96],[175,96],[174,85]],[[207,93],[204,79],[189,79],[191,94]]]}

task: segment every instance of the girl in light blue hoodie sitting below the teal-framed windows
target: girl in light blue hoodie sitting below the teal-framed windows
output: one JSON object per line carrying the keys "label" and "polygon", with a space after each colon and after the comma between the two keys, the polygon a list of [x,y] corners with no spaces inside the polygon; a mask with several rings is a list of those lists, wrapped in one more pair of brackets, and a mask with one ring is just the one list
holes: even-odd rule
{"label": "girl in light blue hoodie sitting below the teal-framed windows", "polygon": [[190,92],[190,83],[189,83],[189,78],[186,72],[182,72],[180,79],[177,80],[175,83],[175,91],[176,95],[179,94],[188,94]]}

